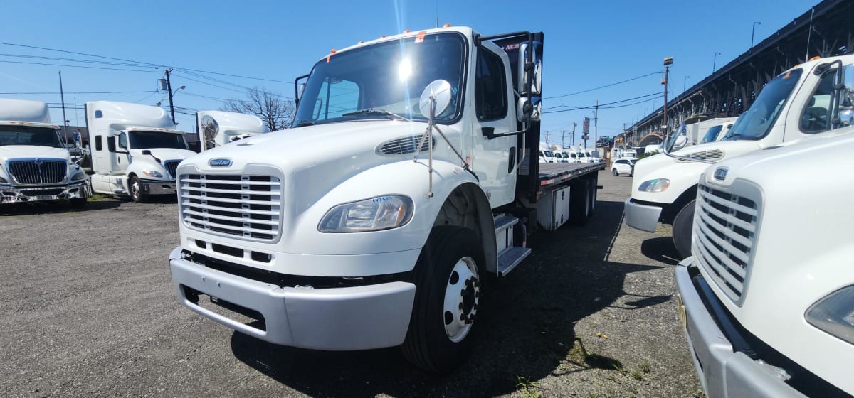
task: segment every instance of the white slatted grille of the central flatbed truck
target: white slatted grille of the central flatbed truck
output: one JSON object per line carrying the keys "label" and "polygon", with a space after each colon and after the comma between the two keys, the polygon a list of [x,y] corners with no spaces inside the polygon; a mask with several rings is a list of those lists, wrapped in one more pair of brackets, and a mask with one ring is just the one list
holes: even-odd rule
{"label": "white slatted grille of the central flatbed truck", "polygon": [[186,174],[178,180],[186,226],[254,240],[275,240],[281,234],[278,177]]}

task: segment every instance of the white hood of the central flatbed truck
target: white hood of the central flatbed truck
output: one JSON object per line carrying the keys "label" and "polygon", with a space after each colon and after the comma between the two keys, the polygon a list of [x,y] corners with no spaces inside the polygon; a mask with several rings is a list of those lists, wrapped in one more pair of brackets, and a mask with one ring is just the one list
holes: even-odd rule
{"label": "white hood of the central flatbed truck", "polygon": [[[353,121],[318,124],[292,130],[280,130],[215,147],[187,159],[178,173],[193,166],[207,173],[245,170],[250,165],[273,165],[281,170],[284,182],[299,187],[293,198],[294,211],[301,212],[329,192],[330,187],[355,176],[361,171],[401,159],[412,159],[412,153],[383,154],[377,149],[383,143],[399,138],[420,137],[426,124],[398,120]],[[454,145],[459,142],[459,130],[453,126],[440,127]],[[438,135],[434,159],[449,159],[453,155],[442,145]],[[427,152],[421,153],[427,158]],[[211,166],[213,159],[228,159],[229,166]],[[459,159],[455,163],[459,163]],[[189,172],[189,171],[183,171]]]}

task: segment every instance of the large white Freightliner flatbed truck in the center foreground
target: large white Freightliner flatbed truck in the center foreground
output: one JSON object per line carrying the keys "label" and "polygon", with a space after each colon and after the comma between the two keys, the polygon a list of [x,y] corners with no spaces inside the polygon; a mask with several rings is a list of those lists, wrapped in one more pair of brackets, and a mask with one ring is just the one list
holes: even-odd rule
{"label": "large white Freightliner flatbed truck in the center foreground", "polygon": [[600,164],[538,161],[542,50],[446,26],[324,55],[292,129],[178,166],[180,302],[271,343],[458,366],[529,234],[594,211]]}

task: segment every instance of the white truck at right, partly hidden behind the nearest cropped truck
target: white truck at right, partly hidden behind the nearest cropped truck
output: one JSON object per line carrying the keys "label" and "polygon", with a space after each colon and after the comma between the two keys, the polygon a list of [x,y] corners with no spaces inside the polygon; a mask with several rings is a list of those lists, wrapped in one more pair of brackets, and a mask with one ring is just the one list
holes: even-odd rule
{"label": "white truck at right, partly hidden behind the nearest cropped truck", "polygon": [[661,153],[635,163],[631,197],[625,202],[629,227],[655,232],[658,222],[671,224],[676,250],[683,258],[690,256],[699,175],[722,159],[833,130],[839,125],[834,120],[845,112],[834,87],[841,85],[845,66],[852,64],[854,55],[842,55],[781,73],[765,85],[722,141],[681,148],[687,136],[670,136],[665,150],[676,156]]}

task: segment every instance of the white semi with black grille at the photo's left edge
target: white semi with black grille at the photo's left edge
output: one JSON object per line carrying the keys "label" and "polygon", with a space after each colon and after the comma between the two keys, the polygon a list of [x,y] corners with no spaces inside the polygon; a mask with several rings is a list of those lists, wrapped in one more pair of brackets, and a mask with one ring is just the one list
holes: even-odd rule
{"label": "white semi with black grille at the photo's left edge", "polygon": [[50,124],[47,104],[0,99],[0,204],[67,199],[85,206],[91,192],[79,161]]}

